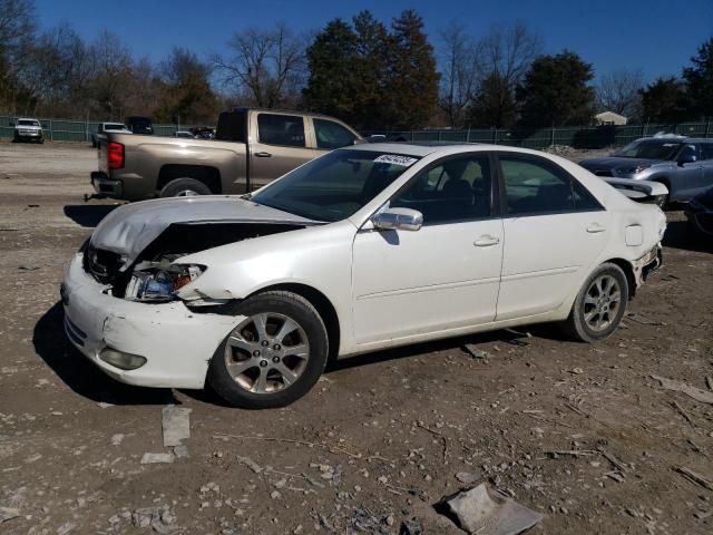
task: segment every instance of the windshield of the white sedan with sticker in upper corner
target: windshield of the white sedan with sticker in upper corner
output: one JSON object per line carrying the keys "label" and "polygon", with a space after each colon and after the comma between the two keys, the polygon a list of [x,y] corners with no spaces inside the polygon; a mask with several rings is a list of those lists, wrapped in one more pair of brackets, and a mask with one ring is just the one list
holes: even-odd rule
{"label": "windshield of the white sedan with sticker in upper corner", "polygon": [[289,173],[252,201],[310,220],[344,220],[419,158],[377,150],[334,150]]}

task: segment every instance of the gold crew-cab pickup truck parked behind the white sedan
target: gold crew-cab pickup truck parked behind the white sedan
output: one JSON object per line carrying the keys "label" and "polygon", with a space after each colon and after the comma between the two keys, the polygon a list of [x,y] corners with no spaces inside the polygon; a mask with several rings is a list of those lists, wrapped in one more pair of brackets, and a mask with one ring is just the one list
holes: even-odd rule
{"label": "gold crew-cab pickup truck parked behind the white sedan", "polygon": [[154,197],[248,193],[328,150],[364,143],[324,115],[236,108],[218,117],[215,139],[106,133],[98,139],[98,196]]}

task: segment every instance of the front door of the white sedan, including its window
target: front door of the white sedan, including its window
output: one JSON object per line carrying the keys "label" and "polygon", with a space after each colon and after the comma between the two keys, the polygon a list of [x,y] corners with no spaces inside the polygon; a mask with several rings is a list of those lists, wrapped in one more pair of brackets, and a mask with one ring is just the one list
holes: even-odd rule
{"label": "front door of the white sedan, including its window", "polygon": [[353,245],[358,343],[491,322],[502,222],[485,153],[459,155],[416,176],[390,201],[423,215],[419,231],[360,231]]}

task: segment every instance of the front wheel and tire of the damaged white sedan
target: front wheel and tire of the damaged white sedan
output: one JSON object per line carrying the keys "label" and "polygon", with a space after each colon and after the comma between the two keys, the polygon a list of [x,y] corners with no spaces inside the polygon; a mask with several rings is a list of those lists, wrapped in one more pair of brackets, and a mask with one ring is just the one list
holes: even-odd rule
{"label": "front wheel and tire of the damaged white sedan", "polygon": [[233,313],[243,318],[211,359],[207,386],[243,409],[284,407],[304,396],[329,354],[326,328],[312,303],[296,293],[267,291]]}

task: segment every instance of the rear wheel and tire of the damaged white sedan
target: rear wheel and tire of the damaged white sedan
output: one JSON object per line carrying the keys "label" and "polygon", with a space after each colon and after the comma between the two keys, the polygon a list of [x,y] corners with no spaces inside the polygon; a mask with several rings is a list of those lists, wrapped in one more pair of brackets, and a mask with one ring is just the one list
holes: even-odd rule
{"label": "rear wheel and tire of the damaged white sedan", "polygon": [[626,274],[618,265],[599,265],[583,284],[561,324],[565,333],[582,342],[612,335],[624,318],[628,293]]}

